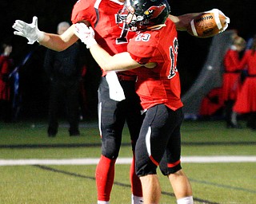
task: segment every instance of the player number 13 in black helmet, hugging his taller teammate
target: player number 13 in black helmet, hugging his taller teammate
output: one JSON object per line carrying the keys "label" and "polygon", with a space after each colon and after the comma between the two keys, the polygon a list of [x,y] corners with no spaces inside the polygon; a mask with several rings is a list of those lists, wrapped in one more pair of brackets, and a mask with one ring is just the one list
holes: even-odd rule
{"label": "player number 13 in black helmet, hugging his taller teammate", "polygon": [[127,52],[114,56],[97,44],[93,29],[80,23],[75,29],[103,70],[134,69],[138,75],[136,92],[146,114],[135,147],[135,160],[146,204],[160,202],[158,166],[170,179],[177,202],[193,203],[190,182],[180,161],[183,104],[176,68],[177,30],[174,22],[168,19],[169,13],[166,0],[127,0],[118,18],[138,32],[130,39]]}

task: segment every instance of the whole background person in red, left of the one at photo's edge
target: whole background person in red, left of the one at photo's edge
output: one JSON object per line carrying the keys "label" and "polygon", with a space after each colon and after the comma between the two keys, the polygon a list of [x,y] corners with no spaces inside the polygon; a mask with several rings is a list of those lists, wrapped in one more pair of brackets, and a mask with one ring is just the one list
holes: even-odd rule
{"label": "whole background person in red, left of the one at photo's edge", "polygon": [[239,53],[246,48],[246,41],[242,37],[234,36],[233,44],[224,56],[223,74],[223,100],[225,103],[226,128],[241,128],[237,122],[237,113],[232,111],[241,86],[240,76],[242,68],[239,67]]}

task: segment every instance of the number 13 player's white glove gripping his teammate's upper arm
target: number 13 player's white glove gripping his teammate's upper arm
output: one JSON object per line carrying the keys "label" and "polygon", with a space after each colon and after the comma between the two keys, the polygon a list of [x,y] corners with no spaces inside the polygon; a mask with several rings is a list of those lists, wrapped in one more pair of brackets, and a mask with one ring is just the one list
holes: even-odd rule
{"label": "number 13 player's white glove gripping his teammate's upper arm", "polygon": [[75,24],[74,34],[86,44],[86,48],[88,49],[90,49],[90,46],[97,44],[97,41],[94,39],[94,29],[92,29],[92,27],[88,28],[86,24],[82,22]]}

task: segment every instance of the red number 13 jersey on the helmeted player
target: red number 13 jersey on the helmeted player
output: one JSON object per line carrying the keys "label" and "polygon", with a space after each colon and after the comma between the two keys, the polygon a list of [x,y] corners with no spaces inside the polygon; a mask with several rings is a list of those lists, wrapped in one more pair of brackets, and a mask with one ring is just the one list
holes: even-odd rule
{"label": "red number 13 jersey on the helmeted player", "polygon": [[167,19],[166,27],[137,33],[128,44],[128,52],[138,63],[156,62],[154,69],[141,67],[137,90],[142,107],[166,104],[172,110],[183,106],[177,65],[178,38],[174,22]]}

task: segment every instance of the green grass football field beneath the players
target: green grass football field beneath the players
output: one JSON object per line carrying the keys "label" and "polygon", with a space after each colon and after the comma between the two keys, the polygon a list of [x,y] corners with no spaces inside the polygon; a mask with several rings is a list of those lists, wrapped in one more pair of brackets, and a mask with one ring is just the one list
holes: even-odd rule
{"label": "green grass football field beneath the players", "polygon": [[[245,125],[243,124],[245,127]],[[62,123],[56,138],[46,135],[46,121],[0,123],[0,203],[97,203],[96,164],[6,165],[10,159],[98,159],[100,137],[96,122],[82,122],[80,137],[70,137]],[[130,139],[124,129],[119,158],[130,158]],[[210,156],[207,163],[183,163],[194,190],[194,203],[253,204],[256,198],[256,163],[209,163],[212,156],[256,156],[256,132],[226,129],[223,121],[185,121],[182,157]],[[27,161],[27,160],[25,160]],[[130,203],[129,164],[117,164],[112,204]],[[166,177],[161,203],[175,203]]]}

